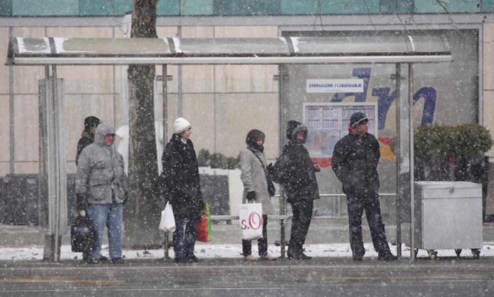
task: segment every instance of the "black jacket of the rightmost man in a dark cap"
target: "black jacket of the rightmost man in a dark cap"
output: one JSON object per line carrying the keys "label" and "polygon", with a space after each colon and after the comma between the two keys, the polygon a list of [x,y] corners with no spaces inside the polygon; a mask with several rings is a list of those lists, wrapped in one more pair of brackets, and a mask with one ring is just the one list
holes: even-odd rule
{"label": "black jacket of the rightmost man in a dark cap", "polygon": [[377,193],[379,142],[374,135],[349,132],[334,146],[332,169],[343,185],[343,193]]}

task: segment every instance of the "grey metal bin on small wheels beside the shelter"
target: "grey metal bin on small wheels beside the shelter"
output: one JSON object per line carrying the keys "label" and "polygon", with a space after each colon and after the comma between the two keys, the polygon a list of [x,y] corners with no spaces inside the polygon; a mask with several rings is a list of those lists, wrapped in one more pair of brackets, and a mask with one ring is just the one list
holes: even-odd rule
{"label": "grey metal bin on small wheels beside the shelter", "polygon": [[415,255],[425,249],[436,259],[436,249],[471,249],[478,258],[482,248],[482,185],[463,181],[414,183]]}

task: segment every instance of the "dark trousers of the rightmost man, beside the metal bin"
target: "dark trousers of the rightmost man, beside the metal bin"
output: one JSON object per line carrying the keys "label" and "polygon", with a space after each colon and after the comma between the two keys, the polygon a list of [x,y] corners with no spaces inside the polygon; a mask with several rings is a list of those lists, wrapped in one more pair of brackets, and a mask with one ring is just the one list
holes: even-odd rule
{"label": "dark trousers of the rightmost man, beside the metal bin", "polygon": [[350,247],[353,256],[361,257],[365,254],[362,241],[362,214],[364,210],[375,251],[379,254],[389,252],[377,193],[350,194],[346,196],[346,203],[350,227]]}

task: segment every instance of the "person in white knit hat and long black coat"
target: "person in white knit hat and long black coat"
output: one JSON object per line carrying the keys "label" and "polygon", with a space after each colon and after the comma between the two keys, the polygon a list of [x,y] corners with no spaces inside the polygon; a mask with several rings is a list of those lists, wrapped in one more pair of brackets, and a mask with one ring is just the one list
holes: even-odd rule
{"label": "person in white knit hat and long black coat", "polygon": [[[174,133],[161,157],[161,196],[169,201],[175,216],[173,251],[175,262],[198,262],[194,255],[197,224],[204,214],[199,183],[199,169],[194,146],[190,140],[192,128],[184,118],[173,123]],[[187,219],[185,231],[183,222]]]}

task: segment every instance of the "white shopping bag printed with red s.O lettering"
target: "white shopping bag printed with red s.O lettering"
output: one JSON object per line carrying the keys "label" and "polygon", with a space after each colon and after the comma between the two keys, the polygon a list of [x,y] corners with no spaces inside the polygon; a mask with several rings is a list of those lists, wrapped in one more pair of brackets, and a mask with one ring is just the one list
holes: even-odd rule
{"label": "white shopping bag printed with red s.O lettering", "polygon": [[240,229],[242,239],[253,240],[262,238],[262,204],[240,204],[239,212]]}

